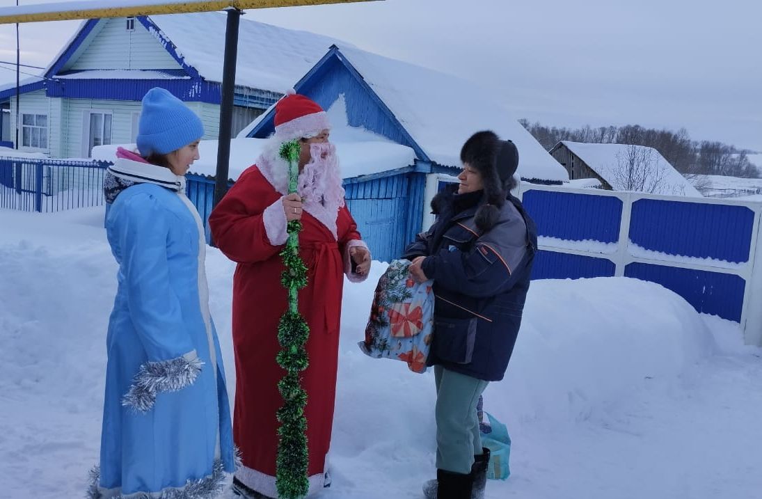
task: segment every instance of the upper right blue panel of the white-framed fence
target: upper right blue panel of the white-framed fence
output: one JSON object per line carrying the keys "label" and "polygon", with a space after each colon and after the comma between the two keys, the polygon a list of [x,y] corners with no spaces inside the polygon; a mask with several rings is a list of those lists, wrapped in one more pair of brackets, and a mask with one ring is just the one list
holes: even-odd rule
{"label": "upper right blue panel of the white-framed fence", "polygon": [[629,239],[652,251],[744,262],[753,229],[746,206],[642,199],[632,203]]}

